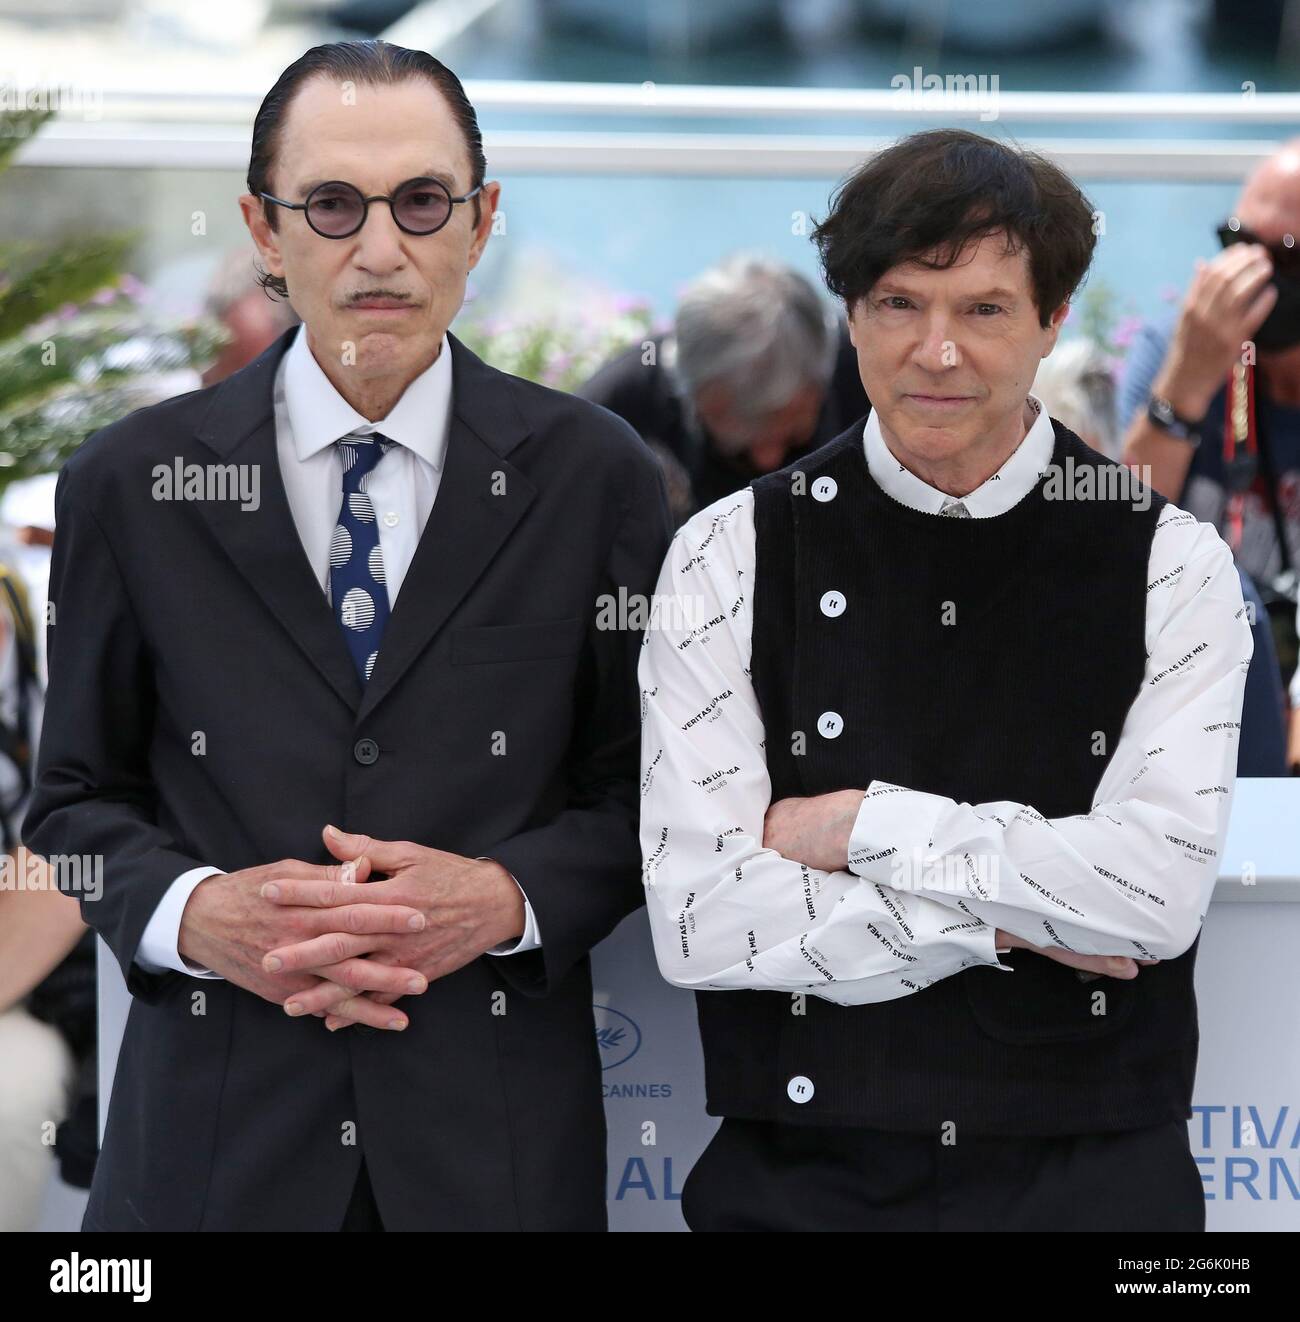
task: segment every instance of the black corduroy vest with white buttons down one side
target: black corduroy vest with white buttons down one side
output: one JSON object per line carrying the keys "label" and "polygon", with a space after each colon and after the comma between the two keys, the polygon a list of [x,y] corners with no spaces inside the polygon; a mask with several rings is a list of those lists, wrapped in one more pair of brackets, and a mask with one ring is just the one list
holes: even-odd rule
{"label": "black corduroy vest with white buttons down one side", "polygon": [[[1116,467],[1053,427],[1063,472]],[[1144,681],[1164,501],[1047,498],[1039,479],[1004,514],[936,517],[881,490],[861,423],[797,473],[752,484],[751,669],[772,801],[885,780],[1088,813]],[[841,613],[823,612],[828,591]],[[819,734],[827,713],[836,738]],[[1129,982],[1030,951],[1001,958],[1013,973],[973,966],[864,1006],[697,993],[710,1114],[1022,1136],[1190,1116],[1196,944]]]}

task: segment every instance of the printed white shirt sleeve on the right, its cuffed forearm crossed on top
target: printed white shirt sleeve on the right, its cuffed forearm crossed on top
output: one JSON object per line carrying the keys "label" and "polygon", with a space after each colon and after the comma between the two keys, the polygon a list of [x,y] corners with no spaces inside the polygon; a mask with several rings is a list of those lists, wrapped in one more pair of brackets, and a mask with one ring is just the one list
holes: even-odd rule
{"label": "printed white shirt sleeve on the right, its cuffed forearm crossed on top", "polygon": [[1046,818],[1029,804],[972,805],[877,780],[850,870],[1034,945],[1182,954],[1218,878],[1254,640],[1231,553],[1174,505],[1157,524],[1147,592],[1145,676],[1091,812]]}

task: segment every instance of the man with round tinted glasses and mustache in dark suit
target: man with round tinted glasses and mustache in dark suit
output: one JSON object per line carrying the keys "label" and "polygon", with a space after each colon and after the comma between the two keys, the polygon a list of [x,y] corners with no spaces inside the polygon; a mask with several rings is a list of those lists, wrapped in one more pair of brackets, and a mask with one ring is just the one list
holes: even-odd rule
{"label": "man with round tinted glasses and mustache in dark suit", "polygon": [[606,1225],[640,635],[598,599],[670,524],[626,423],[450,334],[484,175],[436,59],[307,52],[239,198],[303,325],[60,476],[25,838],[102,859],[134,995],[87,1229]]}

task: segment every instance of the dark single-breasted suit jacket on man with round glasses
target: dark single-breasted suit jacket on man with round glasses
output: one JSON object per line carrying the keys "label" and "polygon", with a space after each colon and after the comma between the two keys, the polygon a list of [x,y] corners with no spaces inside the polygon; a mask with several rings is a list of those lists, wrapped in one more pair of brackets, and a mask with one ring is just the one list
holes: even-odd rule
{"label": "dark single-breasted suit jacket on man with round glasses", "polygon": [[[596,599],[653,591],[663,479],[612,414],[451,338],[442,484],[362,687],[276,459],[292,333],[60,475],[25,838],[102,855],[82,912],[134,994],[86,1225],[336,1229],[364,1153],[389,1228],[603,1227],[587,951],[643,898],[640,637]],[[177,456],[259,465],[261,506],[155,500]],[[329,862],[325,822],[499,859],[541,951],[406,998],[401,1034],[132,962],[186,869]]]}

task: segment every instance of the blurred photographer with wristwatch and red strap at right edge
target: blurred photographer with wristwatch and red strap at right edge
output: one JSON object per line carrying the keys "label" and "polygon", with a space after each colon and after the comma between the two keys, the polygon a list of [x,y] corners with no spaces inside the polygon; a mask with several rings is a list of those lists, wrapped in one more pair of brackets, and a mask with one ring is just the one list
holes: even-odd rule
{"label": "blurred photographer with wristwatch and red strap at right edge", "polygon": [[1300,771],[1300,139],[1246,181],[1197,260],[1177,317],[1135,338],[1120,389],[1124,461],[1214,524],[1255,580],[1291,683],[1288,764]]}

